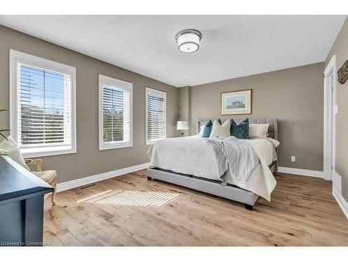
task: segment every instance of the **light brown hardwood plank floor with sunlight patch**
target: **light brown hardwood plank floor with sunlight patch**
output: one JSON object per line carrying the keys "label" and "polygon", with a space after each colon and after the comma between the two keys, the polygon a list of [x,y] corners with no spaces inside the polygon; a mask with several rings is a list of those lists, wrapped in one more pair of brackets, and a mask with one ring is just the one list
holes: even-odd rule
{"label": "light brown hardwood plank floor with sunlight patch", "polygon": [[271,202],[241,203],[160,181],[145,170],[45,200],[50,246],[348,246],[331,182],[276,175]]}

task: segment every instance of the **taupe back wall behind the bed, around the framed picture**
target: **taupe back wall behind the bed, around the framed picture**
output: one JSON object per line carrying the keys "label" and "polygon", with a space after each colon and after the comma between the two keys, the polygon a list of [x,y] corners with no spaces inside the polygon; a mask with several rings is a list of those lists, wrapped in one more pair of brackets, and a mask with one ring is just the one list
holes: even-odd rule
{"label": "taupe back wall behind the bed, around the framed picture", "polygon": [[[324,63],[191,86],[190,132],[196,122],[209,118],[278,118],[279,165],[322,171]],[[253,114],[221,116],[220,94],[253,89]],[[290,156],[296,161],[291,162]]]}

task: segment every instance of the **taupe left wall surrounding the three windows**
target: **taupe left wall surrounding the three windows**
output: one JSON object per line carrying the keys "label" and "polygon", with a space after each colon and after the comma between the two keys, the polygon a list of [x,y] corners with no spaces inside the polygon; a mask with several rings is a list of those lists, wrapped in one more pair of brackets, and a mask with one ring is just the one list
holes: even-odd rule
{"label": "taupe left wall surrounding the three windows", "polygon": [[[177,136],[178,89],[95,58],[0,26],[0,107],[9,107],[9,49],[76,67],[77,153],[42,157],[43,168],[56,169],[66,182],[150,161],[145,145],[145,86],[167,93],[167,136]],[[98,74],[133,83],[133,147],[98,149]],[[0,114],[0,129],[9,127],[8,113]]]}

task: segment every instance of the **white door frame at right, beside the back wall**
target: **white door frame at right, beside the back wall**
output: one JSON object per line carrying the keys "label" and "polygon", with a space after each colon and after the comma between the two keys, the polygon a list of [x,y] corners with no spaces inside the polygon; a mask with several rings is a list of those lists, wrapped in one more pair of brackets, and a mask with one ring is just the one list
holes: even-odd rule
{"label": "white door frame at right, beside the back wall", "polygon": [[[332,86],[332,87],[331,87]],[[332,180],[335,170],[336,129],[336,56],[332,56],[324,70],[324,169],[325,180]]]}

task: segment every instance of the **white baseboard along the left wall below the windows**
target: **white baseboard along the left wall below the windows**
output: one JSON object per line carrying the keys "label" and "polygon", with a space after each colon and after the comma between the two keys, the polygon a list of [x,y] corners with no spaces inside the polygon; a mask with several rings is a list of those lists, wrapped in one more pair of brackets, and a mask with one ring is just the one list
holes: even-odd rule
{"label": "white baseboard along the left wall below the windows", "polygon": [[140,171],[141,169],[148,168],[149,166],[150,166],[150,162],[144,163],[144,164],[139,164],[136,166],[127,167],[127,168],[120,168],[120,169],[115,170],[115,171],[109,171],[106,173],[101,173],[101,174],[97,174],[97,175],[93,175],[93,176],[89,176],[89,177],[82,177],[81,179],[78,179],[78,180],[71,180],[68,182],[58,183],[57,184],[57,192],[65,191],[68,189],[74,189],[76,187],[81,187],[81,186],[84,186],[86,184],[98,182],[101,180],[106,180],[106,179],[109,179],[111,177],[117,177],[120,175],[131,173],[133,171]]}

